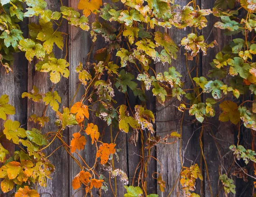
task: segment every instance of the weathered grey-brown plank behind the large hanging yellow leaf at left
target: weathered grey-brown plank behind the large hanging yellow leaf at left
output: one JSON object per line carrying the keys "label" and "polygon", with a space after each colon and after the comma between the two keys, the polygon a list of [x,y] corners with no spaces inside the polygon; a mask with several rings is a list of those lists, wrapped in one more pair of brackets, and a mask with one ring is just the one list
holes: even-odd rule
{"label": "weathered grey-brown plank behind the large hanging yellow leaf at left", "polygon": [[[61,7],[60,1],[51,1],[47,0],[48,6],[47,9],[56,10],[59,11]],[[62,4],[68,6],[68,0],[62,0]],[[36,18],[31,19],[30,21],[37,22],[38,20]],[[56,29],[56,25],[53,26],[54,29]],[[59,31],[67,33],[68,32],[68,26],[67,21],[64,19]],[[65,36],[64,40],[65,42]],[[64,45],[65,46],[65,45]],[[65,58],[66,55],[66,49],[64,47],[63,51],[61,49],[58,49],[56,46],[54,46],[54,54],[56,58]],[[35,71],[35,61],[28,64],[28,91],[31,91],[33,89],[33,85],[35,85],[40,93],[47,93],[48,91],[51,91],[52,82],[49,79],[48,73],[42,73]],[[61,96],[61,105],[59,110],[62,112],[62,107],[68,106],[68,100],[69,100],[69,89],[68,89],[68,79],[61,77],[61,81],[57,83],[54,87],[54,91],[57,91],[58,94]],[[28,100],[28,117],[32,114],[37,114],[37,116],[42,116],[43,111],[45,108],[45,104],[40,103],[34,103],[31,100]],[[56,131],[57,127],[55,125],[56,120],[56,112],[54,112],[52,109],[50,109],[50,106],[48,106],[46,111],[46,116],[50,118],[50,122],[47,123],[42,128],[42,133],[47,133],[50,131]],[[28,129],[31,128],[39,128],[38,125],[33,124],[32,122],[28,122]],[[68,130],[63,131],[63,137],[62,139],[69,143],[69,133]],[[62,143],[57,139],[54,143],[51,144],[49,148],[45,150],[46,155],[49,155],[51,152],[53,152],[56,148],[58,148]],[[47,197],[49,195],[52,196],[70,196],[69,191],[69,156],[65,152],[64,148],[59,148],[56,152],[54,152],[51,157],[49,157],[49,160],[52,162],[54,166],[56,166],[56,170],[54,173],[52,173],[51,178],[52,180],[47,180],[47,188],[38,188],[38,193],[42,195],[42,197]]]}

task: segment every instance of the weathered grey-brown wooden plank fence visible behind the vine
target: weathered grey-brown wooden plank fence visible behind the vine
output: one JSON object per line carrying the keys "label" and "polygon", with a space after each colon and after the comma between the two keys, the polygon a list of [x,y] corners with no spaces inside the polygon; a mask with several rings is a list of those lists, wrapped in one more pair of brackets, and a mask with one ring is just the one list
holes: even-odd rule
{"label": "weathered grey-brown wooden plank fence visible behind the vine", "polygon": [[[190,0],[176,0],[177,4],[185,6]],[[212,9],[215,0],[197,0],[197,4],[201,4],[201,9]],[[77,8],[79,0],[62,0],[63,5]],[[49,9],[59,10],[61,7],[61,2],[59,0],[47,0]],[[90,22],[95,20],[95,15],[91,14],[89,17]],[[210,66],[209,62],[215,57],[223,46],[231,40],[231,36],[224,36],[223,31],[214,28],[213,25],[217,18],[214,16],[208,17],[208,27],[203,28],[200,34],[205,36],[207,42],[217,40],[218,46],[213,49],[208,50],[207,56],[200,56],[199,58],[199,72],[202,76],[206,76]],[[31,19],[31,22],[37,21],[36,18]],[[28,20],[21,24],[23,32],[25,32],[24,37],[28,37]],[[186,30],[178,30],[175,27],[171,29],[158,29],[159,31],[168,32],[171,38],[177,43],[191,32],[190,28]],[[67,37],[67,49],[65,48],[61,51],[58,48],[54,49],[56,58],[65,58],[66,53],[68,53],[67,59],[70,63],[70,76],[68,79],[64,77],[61,78],[61,82],[56,84],[54,90],[57,90],[62,98],[61,107],[69,106],[72,98],[74,97],[75,91],[79,85],[78,74],[75,73],[75,68],[78,66],[79,62],[85,63],[87,59],[87,54],[93,45],[90,33],[82,31],[77,27],[71,27],[66,21],[63,21],[61,29],[59,31],[68,34]],[[66,38],[66,37],[65,37]],[[102,40],[103,43],[103,40]],[[102,48],[101,46],[95,46],[93,52],[97,49]],[[183,55],[185,53],[184,48],[180,48],[177,54],[178,58],[173,61],[172,66],[176,67],[177,71],[182,74],[182,81],[184,81],[185,89],[192,87],[191,80],[189,79],[187,68],[186,68],[186,57]],[[0,68],[0,95],[8,94],[10,99],[10,104],[16,108],[16,114],[10,116],[12,120],[19,121],[23,128],[28,130],[37,127],[33,122],[28,121],[28,117],[32,114],[42,113],[44,109],[43,103],[34,103],[27,99],[22,99],[21,94],[23,92],[29,92],[33,89],[33,85],[37,86],[40,92],[48,92],[51,89],[51,81],[49,79],[48,73],[42,73],[35,71],[35,61],[28,63],[25,59],[23,53],[15,55],[15,61],[13,65],[14,72],[9,75],[5,73],[3,67]],[[195,61],[188,62],[189,70],[195,66]],[[164,72],[168,70],[169,65],[155,65],[156,72]],[[191,72],[191,77],[195,76],[195,72]],[[79,101],[79,98],[84,94],[84,88],[80,88],[79,92],[74,99],[74,102]],[[137,100],[129,94],[129,100],[131,105],[135,105]],[[165,136],[170,134],[172,131],[177,131],[182,134],[182,141],[174,144],[159,144],[154,148],[152,153],[154,157],[158,159],[159,162],[152,160],[149,166],[147,190],[148,193],[158,193],[159,197],[167,197],[168,193],[174,187],[174,191],[170,197],[177,196],[177,184],[176,181],[179,177],[181,171],[181,161],[180,156],[182,156],[183,165],[191,166],[191,163],[197,163],[204,176],[204,180],[197,182],[196,193],[204,197],[216,197],[219,194],[221,183],[219,181],[219,166],[224,165],[225,167],[231,166],[233,162],[233,154],[229,152],[228,147],[237,142],[237,132],[238,128],[229,123],[221,123],[218,121],[218,114],[209,119],[208,123],[204,124],[204,132],[201,132],[202,125],[194,121],[193,116],[189,116],[188,112],[185,113],[182,121],[182,113],[175,107],[176,103],[172,100],[167,101],[165,105],[161,105],[155,102],[155,98],[152,93],[147,95],[149,100],[147,102],[147,107],[152,110],[156,117],[155,130],[156,134],[160,136]],[[120,103],[126,104],[126,98],[123,94],[117,94],[115,97]],[[178,104],[177,104],[178,105]],[[55,113],[52,110],[47,110],[47,116],[50,119],[54,119]],[[110,127],[106,127],[105,124],[98,118],[94,113],[90,114],[89,122],[99,125],[99,131],[103,131],[105,136],[103,141],[110,141]],[[0,131],[3,130],[4,121],[0,120]],[[56,130],[54,121],[47,123],[44,128],[45,131]],[[77,132],[78,127],[71,127],[66,129],[63,133],[63,139],[66,143],[70,144],[72,139],[72,134]],[[113,129],[113,135],[117,133],[116,129]],[[247,130],[242,130],[242,138],[250,137],[250,132]],[[135,174],[137,164],[140,161],[140,149],[144,144],[138,140],[137,146],[129,143],[131,134],[121,133],[118,135],[116,140],[117,148],[121,148],[119,152],[120,161],[115,162],[115,167],[124,170],[128,177],[130,183],[135,178],[135,184],[137,183],[137,174]],[[57,147],[61,145],[61,142],[56,142],[47,149],[47,153],[52,152]],[[8,143],[4,143],[5,148],[9,150],[14,150],[14,146]],[[201,152],[201,149],[203,152]],[[13,151],[11,151],[13,152]],[[226,154],[228,152],[228,154]],[[95,148],[87,143],[83,151],[79,152],[86,160],[89,166],[93,166],[95,155]],[[76,157],[74,155],[74,157]],[[79,166],[69,157],[64,148],[58,149],[54,154],[49,157],[54,166],[57,166],[56,171],[51,176],[52,180],[47,180],[47,188],[38,188],[40,196],[42,197],[83,197],[84,191],[80,190],[75,193],[71,186],[71,181],[75,175],[79,173]],[[79,158],[77,158],[79,160]],[[205,161],[206,164],[205,164]],[[208,174],[206,173],[208,169]],[[166,181],[165,192],[160,192],[157,184],[157,180],[152,178],[152,173],[159,172],[163,173],[163,180]],[[235,178],[235,184],[237,186],[237,197],[251,197],[252,185],[244,183],[241,179]],[[114,183],[112,183],[114,184]],[[176,186],[175,186],[176,185]],[[117,197],[123,197],[125,193],[125,188],[123,184],[117,180]],[[97,194],[94,194],[97,196]],[[102,197],[112,197],[112,191],[109,189],[107,193],[102,193]],[[219,196],[224,196],[220,193]],[[233,195],[230,195],[233,196]]]}

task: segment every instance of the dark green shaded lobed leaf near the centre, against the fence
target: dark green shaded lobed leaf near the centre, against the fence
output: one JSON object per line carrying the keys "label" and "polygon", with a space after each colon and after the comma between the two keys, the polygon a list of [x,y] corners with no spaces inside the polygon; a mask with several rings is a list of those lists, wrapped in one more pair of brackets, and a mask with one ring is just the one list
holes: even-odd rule
{"label": "dark green shaded lobed leaf near the centre, against the fence", "polygon": [[135,90],[137,87],[137,83],[131,81],[134,79],[134,75],[130,72],[125,72],[125,70],[121,70],[119,72],[118,78],[116,79],[116,88],[119,88],[121,92],[127,92],[127,85],[131,90]]}

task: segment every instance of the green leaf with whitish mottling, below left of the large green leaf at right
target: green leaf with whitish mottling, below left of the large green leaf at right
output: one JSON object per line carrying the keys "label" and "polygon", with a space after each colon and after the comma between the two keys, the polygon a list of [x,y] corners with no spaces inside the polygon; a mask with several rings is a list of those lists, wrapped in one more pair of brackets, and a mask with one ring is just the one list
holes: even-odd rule
{"label": "green leaf with whitish mottling, below left of the large green leaf at right", "polygon": [[214,99],[220,99],[222,97],[220,88],[223,86],[223,84],[224,83],[219,80],[208,81],[208,83],[205,84],[204,92],[211,92]]}

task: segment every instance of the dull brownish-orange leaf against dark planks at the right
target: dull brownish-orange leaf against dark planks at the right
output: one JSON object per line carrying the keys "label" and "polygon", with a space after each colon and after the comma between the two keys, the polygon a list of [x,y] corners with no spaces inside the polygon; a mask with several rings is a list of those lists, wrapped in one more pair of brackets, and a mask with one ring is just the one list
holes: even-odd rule
{"label": "dull brownish-orange leaf against dark planks at the right", "polygon": [[219,115],[219,121],[226,122],[231,121],[233,124],[237,124],[240,120],[240,112],[238,111],[237,103],[233,101],[223,101],[219,104],[222,109],[222,113]]}

